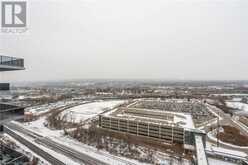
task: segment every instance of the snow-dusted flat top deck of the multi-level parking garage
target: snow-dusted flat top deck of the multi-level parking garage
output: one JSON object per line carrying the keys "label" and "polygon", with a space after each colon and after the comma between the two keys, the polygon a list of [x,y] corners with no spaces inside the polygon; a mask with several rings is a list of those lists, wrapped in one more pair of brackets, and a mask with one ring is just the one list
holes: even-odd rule
{"label": "snow-dusted flat top deck of the multi-level parking garage", "polygon": [[194,123],[190,114],[170,111],[141,109],[141,108],[117,108],[102,116],[119,119],[128,119],[139,122],[149,122],[161,125],[170,125],[194,129]]}

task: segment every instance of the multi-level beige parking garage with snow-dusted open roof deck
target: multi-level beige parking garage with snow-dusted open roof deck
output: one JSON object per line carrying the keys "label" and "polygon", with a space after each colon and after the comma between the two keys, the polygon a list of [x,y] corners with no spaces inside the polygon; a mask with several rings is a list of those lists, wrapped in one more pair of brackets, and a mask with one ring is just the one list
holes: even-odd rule
{"label": "multi-level beige parking garage with snow-dusted open roof deck", "polygon": [[171,111],[118,108],[100,115],[101,128],[144,136],[166,143],[195,145],[194,135],[204,133],[195,129],[191,115]]}

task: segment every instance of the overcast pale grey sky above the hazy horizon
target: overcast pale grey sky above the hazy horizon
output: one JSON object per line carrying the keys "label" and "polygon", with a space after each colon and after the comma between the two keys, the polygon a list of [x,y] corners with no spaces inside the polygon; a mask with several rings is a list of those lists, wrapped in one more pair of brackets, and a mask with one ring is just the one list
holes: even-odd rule
{"label": "overcast pale grey sky above the hazy horizon", "polygon": [[247,0],[32,0],[3,80],[248,79]]}

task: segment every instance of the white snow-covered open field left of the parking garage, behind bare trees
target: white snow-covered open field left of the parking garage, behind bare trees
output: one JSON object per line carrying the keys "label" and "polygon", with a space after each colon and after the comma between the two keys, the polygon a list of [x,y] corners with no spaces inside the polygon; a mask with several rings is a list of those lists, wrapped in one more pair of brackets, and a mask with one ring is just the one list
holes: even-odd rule
{"label": "white snow-covered open field left of the parking garage, behind bare trees", "polygon": [[93,118],[98,114],[123,104],[124,100],[98,101],[93,103],[82,104],[67,109],[61,113],[68,122],[79,123]]}

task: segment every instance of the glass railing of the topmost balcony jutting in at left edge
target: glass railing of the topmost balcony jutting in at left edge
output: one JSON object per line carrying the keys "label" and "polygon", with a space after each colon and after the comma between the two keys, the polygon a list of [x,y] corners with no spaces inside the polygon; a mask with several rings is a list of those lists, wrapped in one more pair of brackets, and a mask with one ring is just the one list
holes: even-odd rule
{"label": "glass railing of the topmost balcony jutting in at left edge", "polygon": [[22,58],[8,57],[0,55],[0,65],[24,67],[24,60]]}

